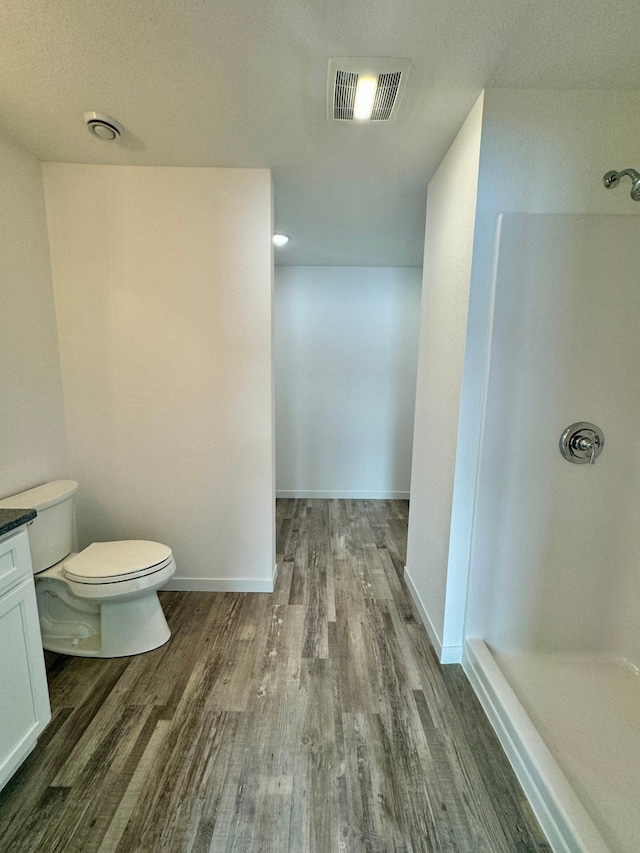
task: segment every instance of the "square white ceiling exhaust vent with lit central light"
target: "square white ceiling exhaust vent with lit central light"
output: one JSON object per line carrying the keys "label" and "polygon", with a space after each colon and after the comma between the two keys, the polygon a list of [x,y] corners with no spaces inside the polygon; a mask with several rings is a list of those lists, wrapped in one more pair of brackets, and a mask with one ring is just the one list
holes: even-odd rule
{"label": "square white ceiling exhaust vent with lit central light", "polygon": [[329,121],[393,121],[409,77],[410,59],[348,56],[329,60]]}

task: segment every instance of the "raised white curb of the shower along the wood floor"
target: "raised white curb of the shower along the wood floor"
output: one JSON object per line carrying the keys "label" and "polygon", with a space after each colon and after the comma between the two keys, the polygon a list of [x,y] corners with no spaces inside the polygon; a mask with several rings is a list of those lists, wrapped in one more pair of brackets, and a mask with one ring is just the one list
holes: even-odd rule
{"label": "raised white curb of the shower along the wood floor", "polygon": [[462,666],[554,853],[611,853],[483,640]]}

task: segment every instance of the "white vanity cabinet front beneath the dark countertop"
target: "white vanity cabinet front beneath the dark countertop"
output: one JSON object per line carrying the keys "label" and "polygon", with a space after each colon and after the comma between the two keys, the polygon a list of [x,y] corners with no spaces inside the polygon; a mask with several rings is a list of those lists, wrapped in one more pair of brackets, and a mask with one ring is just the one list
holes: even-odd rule
{"label": "white vanity cabinet front beneath the dark countertop", "polygon": [[51,719],[25,527],[0,538],[0,788]]}

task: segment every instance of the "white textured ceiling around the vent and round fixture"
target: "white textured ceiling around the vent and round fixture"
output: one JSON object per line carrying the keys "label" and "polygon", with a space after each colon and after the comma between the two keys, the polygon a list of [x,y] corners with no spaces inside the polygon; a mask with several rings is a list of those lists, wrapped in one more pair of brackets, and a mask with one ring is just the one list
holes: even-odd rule
{"label": "white textured ceiling around the vent and round fixture", "polygon": [[[3,0],[0,127],[42,160],[269,167],[279,263],[419,266],[481,89],[640,88],[639,22],[638,0]],[[332,56],[413,61],[396,122],[327,122]]]}

